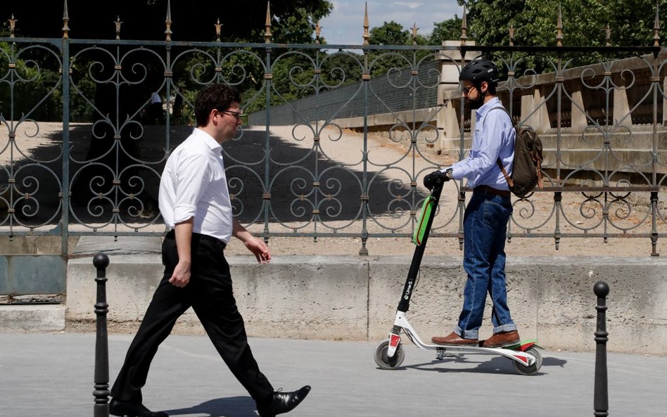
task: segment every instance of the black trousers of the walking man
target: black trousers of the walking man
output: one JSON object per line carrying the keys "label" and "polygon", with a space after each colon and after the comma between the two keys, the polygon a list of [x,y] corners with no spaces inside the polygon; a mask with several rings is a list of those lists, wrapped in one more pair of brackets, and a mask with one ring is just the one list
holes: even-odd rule
{"label": "black trousers of the walking man", "polygon": [[262,402],[272,394],[273,387],[260,372],[250,351],[243,317],[236,309],[232,293],[224,243],[194,233],[191,250],[190,281],[184,288],[177,288],[169,282],[178,263],[176,240],[173,231],[167,233],[162,245],[165,274],[129,346],[111,396],[125,402],[143,401],[141,387],[146,385],[148,368],[158,346],[172,331],[179,316],[192,307],[231,373],[256,402]]}

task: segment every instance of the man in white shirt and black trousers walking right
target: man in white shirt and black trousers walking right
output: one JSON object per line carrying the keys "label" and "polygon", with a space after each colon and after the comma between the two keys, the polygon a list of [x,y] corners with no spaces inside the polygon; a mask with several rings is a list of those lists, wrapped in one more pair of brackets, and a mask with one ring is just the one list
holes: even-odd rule
{"label": "man in white shirt and black trousers walking right", "polygon": [[234,217],[222,160],[222,143],[241,124],[239,93],[227,84],[210,84],[197,95],[196,129],[174,149],[160,179],[160,212],[172,230],[162,245],[165,273],[155,289],[111,389],[110,413],[128,417],[167,417],[142,404],[141,387],[155,352],[174,323],[192,307],[231,373],[257,403],[261,417],[294,409],[310,392],[277,392],[260,371],[236,309],[224,247],[234,236],[258,262],[271,252]]}

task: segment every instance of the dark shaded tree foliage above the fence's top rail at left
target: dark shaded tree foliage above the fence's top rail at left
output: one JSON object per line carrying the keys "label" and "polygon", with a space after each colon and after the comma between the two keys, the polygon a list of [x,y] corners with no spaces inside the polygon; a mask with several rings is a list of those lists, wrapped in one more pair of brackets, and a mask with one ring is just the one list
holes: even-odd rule
{"label": "dark shaded tree foliage above the fence's top rail at left", "polygon": [[[212,41],[222,25],[222,41],[263,42],[266,0],[170,1],[172,40]],[[314,40],[317,21],[331,13],[328,0],[271,0],[274,41],[305,44]],[[68,0],[69,36],[75,39],[115,39],[115,21],[122,22],[121,39],[164,40],[167,0]],[[34,4],[15,1],[4,7],[12,13],[16,36],[61,37],[63,1]]]}

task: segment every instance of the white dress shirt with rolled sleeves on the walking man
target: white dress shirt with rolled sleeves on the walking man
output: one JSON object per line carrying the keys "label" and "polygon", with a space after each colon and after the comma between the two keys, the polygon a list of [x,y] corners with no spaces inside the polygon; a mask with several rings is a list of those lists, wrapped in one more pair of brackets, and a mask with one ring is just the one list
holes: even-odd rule
{"label": "white dress shirt with rolled sleeves on the walking man", "polygon": [[220,143],[193,129],[167,159],[158,202],[168,227],[194,217],[194,233],[229,243],[233,216]]}

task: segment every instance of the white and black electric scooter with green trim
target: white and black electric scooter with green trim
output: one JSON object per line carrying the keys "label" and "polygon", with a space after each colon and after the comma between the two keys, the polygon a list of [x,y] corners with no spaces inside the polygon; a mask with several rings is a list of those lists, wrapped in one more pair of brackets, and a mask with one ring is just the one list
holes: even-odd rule
{"label": "white and black electric scooter with green trim", "polygon": [[430,345],[419,338],[417,331],[414,331],[414,328],[407,321],[410,297],[412,297],[412,292],[417,286],[421,259],[424,257],[426,241],[428,240],[428,234],[431,232],[433,218],[436,217],[442,189],[443,181],[440,181],[439,184],[433,186],[431,195],[424,200],[418,226],[412,237],[412,241],[417,246],[414,249],[405,286],[398,303],[394,325],[389,332],[389,338],[380,342],[375,348],[375,363],[382,369],[395,369],[402,364],[403,359],[405,359],[405,351],[401,345],[401,333],[403,333],[417,347],[435,350],[438,360],[466,354],[500,355],[512,360],[516,372],[521,375],[532,375],[542,366],[542,355],[538,350],[540,347],[537,345],[537,340],[525,340],[516,343],[516,345],[504,347],[482,347],[483,340],[480,340],[478,345]]}

